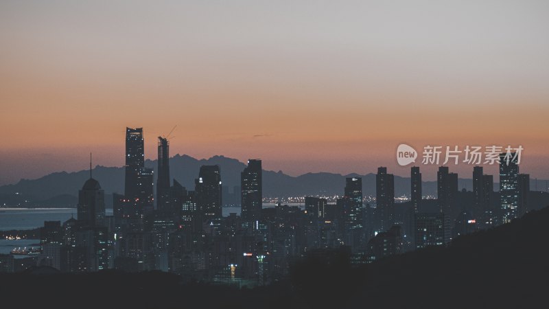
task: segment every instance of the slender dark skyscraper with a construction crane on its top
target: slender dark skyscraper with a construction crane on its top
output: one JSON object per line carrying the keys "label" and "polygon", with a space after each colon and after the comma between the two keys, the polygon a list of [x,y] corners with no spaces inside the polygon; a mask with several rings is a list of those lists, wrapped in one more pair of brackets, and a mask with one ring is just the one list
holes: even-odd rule
{"label": "slender dark skyscraper with a construction crane on its top", "polygon": [[159,137],[158,173],[156,209],[165,213],[170,209],[170,142],[163,137]]}

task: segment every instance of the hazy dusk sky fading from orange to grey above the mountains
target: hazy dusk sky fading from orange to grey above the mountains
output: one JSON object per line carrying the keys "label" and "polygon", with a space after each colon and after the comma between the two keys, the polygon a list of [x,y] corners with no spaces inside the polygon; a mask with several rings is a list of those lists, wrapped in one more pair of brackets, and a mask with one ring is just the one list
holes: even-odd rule
{"label": "hazy dusk sky fading from orange to grey above the mountains", "polygon": [[171,155],[291,175],[408,176],[401,143],[521,145],[521,172],[549,179],[548,15],[548,1],[4,0],[0,185],[84,170],[89,152],[124,165],[126,126],[147,159],[177,126]]}

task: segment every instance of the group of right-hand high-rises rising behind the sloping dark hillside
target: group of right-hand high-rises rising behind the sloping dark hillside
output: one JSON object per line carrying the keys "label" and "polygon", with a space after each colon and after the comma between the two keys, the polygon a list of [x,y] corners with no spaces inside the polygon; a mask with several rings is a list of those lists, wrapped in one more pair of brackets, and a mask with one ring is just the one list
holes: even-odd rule
{"label": "group of right-hand high-rises rising behind the sloping dark hillside", "polygon": [[[396,211],[393,175],[379,168],[376,183],[376,206],[366,211],[377,215],[366,223],[373,227],[369,237],[375,236],[373,243],[380,242],[377,238],[402,243],[403,249],[447,244],[456,236],[511,222],[530,210],[530,176],[519,174],[514,153],[500,154],[499,192],[493,190],[493,175],[484,174],[482,166],[473,169],[473,192],[460,191],[458,174],[441,166],[436,173],[436,199],[424,199],[421,172],[414,166],[410,170],[410,205],[403,203]],[[402,228],[401,233],[388,233],[395,226]]]}

